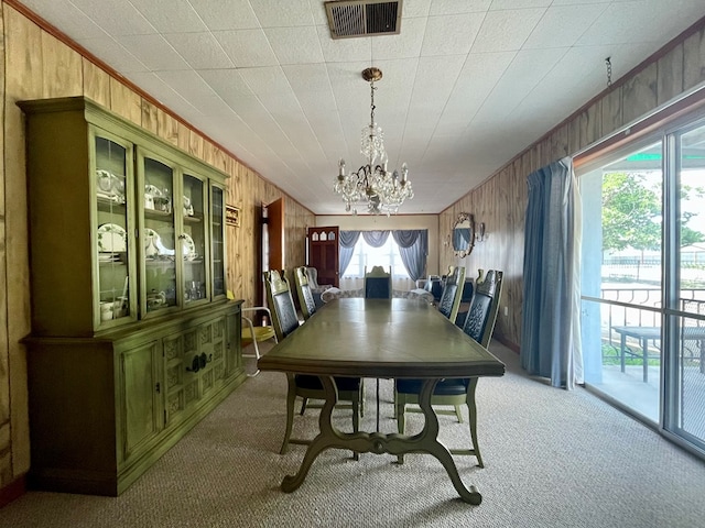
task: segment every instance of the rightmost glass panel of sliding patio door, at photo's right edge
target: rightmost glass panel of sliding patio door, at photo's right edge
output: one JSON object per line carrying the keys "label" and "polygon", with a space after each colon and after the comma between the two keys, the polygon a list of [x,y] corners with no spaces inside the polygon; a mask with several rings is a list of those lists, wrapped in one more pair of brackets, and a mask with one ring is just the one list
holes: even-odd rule
{"label": "rightmost glass panel of sliding patio door, at photo's right edge", "polygon": [[666,284],[666,397],[664,428],[690,443],[705,447],[705,123],[668,138],[669,195],[675,219],[666,239],[673,271]]}

